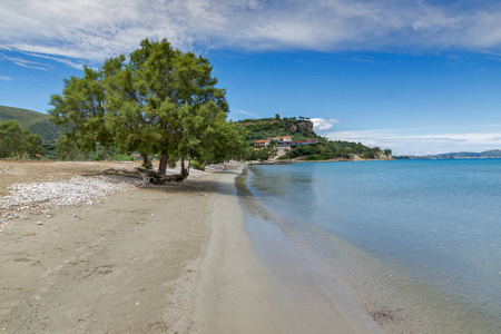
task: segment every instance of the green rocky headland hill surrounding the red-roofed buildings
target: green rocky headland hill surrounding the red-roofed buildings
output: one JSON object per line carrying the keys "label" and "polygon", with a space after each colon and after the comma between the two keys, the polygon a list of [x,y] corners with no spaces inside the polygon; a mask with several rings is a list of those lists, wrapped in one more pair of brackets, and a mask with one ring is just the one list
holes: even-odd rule
{"label": "green rocky headland hill surrounding the red-roofed buildings", "polygon": [[379,147],[367,147],[361,143],[328,140],[313,130],[313,122],[304,117],[299,119],[275,118],[244,119],[236,122],[247,130],[247,143],[272,137],[291,136],[292,140],[314,139],[315,144],[292,146],[283,151],[281,158],[298,160],[358,160],[358,159],[392,159],[390,149],[382,151]]}

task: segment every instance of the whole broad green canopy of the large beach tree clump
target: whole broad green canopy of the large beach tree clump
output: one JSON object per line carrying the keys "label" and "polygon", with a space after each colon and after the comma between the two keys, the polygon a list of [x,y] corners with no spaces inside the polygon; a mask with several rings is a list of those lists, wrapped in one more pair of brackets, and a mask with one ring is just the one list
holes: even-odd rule
{"label": "whole broad green canopy of the large beach tree clump", "polygon": [[243,131],[226,121],[226,91],[212,70],[204,57],[145,39],[128,58],[110,58],[66,80],[49,112],[79,149],[112,145],[159,155],[159,174],[169,160],[235,157],[245,148]]}

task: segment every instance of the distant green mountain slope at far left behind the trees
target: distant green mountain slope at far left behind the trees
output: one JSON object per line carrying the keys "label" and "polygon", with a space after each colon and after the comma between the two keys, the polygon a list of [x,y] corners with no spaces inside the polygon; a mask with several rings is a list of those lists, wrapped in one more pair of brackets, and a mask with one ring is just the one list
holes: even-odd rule
{"label": "distant green mountain slope at far left behind the trees", "polygon": [[56,140],[59,138],[60,128],[51,124],[49,117],[33,110],[0,106],[0,121],[16,120],[21,128],[29,129],[43,140]]}

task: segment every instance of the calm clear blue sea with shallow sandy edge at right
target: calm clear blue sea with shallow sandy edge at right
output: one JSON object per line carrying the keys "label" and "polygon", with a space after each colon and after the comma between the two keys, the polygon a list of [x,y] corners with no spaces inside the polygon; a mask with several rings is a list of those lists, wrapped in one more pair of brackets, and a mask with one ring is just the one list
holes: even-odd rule
{"label": "calm clear blue sea with shallow sandy edge at right", "polygon": [[248,166],[237,189],[253,238],[279,230],[386,333],[501,333],[501,159]]}

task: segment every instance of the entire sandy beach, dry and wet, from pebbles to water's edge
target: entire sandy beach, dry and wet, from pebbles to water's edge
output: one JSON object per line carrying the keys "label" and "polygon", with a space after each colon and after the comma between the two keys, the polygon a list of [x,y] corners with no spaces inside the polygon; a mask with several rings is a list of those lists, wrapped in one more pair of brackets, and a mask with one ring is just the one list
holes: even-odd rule
{"label": "entire sandy beach, dry and wet, from pebbles to water's edge", "polygon": [[263,265],[232,168],[12,219],[0,331],[380,333],[298,263]]}

